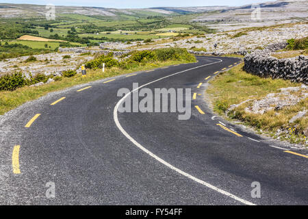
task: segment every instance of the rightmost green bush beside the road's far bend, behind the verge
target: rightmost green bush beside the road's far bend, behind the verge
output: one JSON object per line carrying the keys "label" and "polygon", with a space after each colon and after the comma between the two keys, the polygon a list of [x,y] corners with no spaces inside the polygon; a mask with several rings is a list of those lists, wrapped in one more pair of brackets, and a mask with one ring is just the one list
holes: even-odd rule
{"label": "rightmost green bush beside the road's far bend, behind the verge", "polygon": [[157,55],[157,60],[166,61],[166,60],[185,60],[193,62],[196,60],[194,55],[188,53],[187,49],[183,48],[164,48],[156,49],[155,54]]}

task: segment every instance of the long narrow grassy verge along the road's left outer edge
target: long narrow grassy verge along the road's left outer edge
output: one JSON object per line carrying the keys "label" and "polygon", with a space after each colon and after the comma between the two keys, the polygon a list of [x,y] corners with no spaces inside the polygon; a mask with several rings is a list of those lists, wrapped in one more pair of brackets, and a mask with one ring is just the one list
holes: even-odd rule
{"label": "long narrow grassy verge along the road's left outer edge", "polygon": [[188,61],[166,61],[166,62],[153,62],[147,63],[142,66],[136,66],[131,69],[123,70],[121,68],[110,68],[102,73],[101,69],[87,70],[87,76],[81,77],[80,74],[74,77],[62,77],[60,81],[54,81],[49,84],[44,84],[39,87],[23,87],[14,91],[1,91],[0,92],[0,115],[8,112],[23,103],[38,99],[40,96],[44,96],[49,92],[63,90],[78,84],[88,83],[90,81],[96,81],[107,77],[114,77],[116,75],[124,75],[127,73],[133,73],[140,70],[150,70],[153,68],[159,68],[162,66],[170,66],[172,64],[188,63]]}

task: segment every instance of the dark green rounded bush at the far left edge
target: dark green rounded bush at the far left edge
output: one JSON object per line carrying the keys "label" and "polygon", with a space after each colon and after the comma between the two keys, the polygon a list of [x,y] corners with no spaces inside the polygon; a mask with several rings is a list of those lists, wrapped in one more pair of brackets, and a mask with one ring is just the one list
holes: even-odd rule
{"label": "dark green rounded bush at the far left edge", "polygon": [[0,77],[0,90],[15,90],[25,86],[25,78],[22,73],[13,73]]}

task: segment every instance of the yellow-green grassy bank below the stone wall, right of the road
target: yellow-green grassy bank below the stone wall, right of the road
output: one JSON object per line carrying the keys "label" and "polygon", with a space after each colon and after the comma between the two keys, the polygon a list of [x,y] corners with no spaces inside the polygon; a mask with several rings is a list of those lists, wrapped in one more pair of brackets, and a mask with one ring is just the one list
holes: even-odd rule
{"label": "yellow-green grassy bank below the stone wall, right of the road", "polygon": [[[267,94],[280,92],[279,88],[300,86],[300,83],[292,83],[283,79],[260,78],[242,70],[243,65],[235,66],[209,82],[207,95],[211,99],[214,111],[225,115],[231,105],[250,99],[251,101],[228,112],[227,118],[240,120],[244,125],[255,128],[259,133],[266,133],[274,138],[288,140],[292,143],[305,143],[307,137],[304,131],[308,129],[308,117],[305,116],[294,123],[289,123],[289,120],[298,112],[308,108],[307,99],[303,99],[296,105],[283,107],[281,110],[270,110],[264,114],[245,111],[245,108],[252,105],[254,100],[264,99]],[[277,134],[279,129],[283,131]]]}

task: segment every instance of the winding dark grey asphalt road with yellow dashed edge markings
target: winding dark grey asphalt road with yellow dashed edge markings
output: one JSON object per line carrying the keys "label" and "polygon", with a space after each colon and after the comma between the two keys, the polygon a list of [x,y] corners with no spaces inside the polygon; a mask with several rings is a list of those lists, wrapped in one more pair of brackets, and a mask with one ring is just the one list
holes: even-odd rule
{"label": "winding dark grey asphalt road with yellow dashed edge markings", "polygon": [[[307,205],[307,151],[269,145],[204,101],[207,81],[241,60],[197,59],[54,92],[0,117],[0,204]],[[133,82],[191,88],[190,120],[118,113],[118,89]]]}

